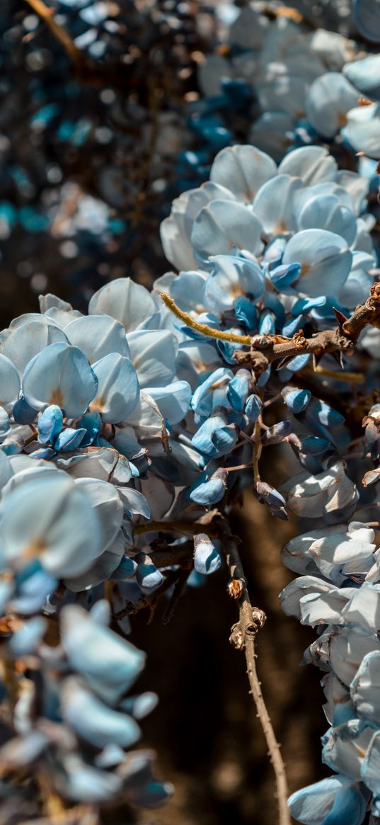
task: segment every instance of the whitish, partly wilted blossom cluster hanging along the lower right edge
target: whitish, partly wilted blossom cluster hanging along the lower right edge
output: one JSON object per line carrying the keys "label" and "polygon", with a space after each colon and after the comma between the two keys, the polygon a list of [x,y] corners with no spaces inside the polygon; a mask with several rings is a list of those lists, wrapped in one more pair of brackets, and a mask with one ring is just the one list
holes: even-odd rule
{"label": "whitish, partly wilted blossom cluster hanging along the lower right edge", "polygon": [[[364,419],[364,455],[379,456],[379,405]],[[332,468],[331,468],[332,469]],[[308,519],[322,516],[321,529],[310,529],[283,549],[284,563],[300,577],[279,598],[285,613],[319,631],[304,655],[325,672],[321,684],[324,711],[331,727],[322,738],[322,761],[337,775],[293,794],[293,816],[301,823],[361,825],[368,808],[371,823],[380,817],[380,569],[374,530],[361,521],[326,519],[325,479],[295,479],[289,490],[293,507]],[[368,470],[364,484],[378,480]],[[312,524],[312,522],[310,522]]]}

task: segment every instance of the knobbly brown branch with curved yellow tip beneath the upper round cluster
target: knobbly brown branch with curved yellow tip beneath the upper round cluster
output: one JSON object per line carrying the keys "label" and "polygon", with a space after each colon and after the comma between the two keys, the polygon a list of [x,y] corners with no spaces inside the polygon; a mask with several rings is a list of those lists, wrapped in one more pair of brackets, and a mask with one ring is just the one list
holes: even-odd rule
{"label": "knobbly brown branch with curved yellow tip beneath the upper round cluster", "polygon": [[351,318],[345,318],[341,313],[336,312],[339,326],[335,329],[322,330],[316,332],[311,338],[303,336],[303,330],[299,330],[293,338],[286,338],[281,335],[235,335],[232,332],[223,332],[213,329],[204,323],[198,323],[189,314],[179,309],[174,300],[166,292],[161,293],[162,300],[177,318],[181,318],[186,326],[201,332],[203,335],[218,338],[221,341],[231,341],[234,343],[250,346],[250,352],[237,351],[234,358],[238,364],[251,366],[256,373],[263,372],[268,364],[273,361],[290,361],[295,356],[314,355],[318,359],[327,352],[344,352],[346,356],[354,354],[354,344],[357,342],[360,332],[368,325],[377,326],[380,322],[380,281],[373,284],[371,293],[365,304],[359,304],[354,310]]}

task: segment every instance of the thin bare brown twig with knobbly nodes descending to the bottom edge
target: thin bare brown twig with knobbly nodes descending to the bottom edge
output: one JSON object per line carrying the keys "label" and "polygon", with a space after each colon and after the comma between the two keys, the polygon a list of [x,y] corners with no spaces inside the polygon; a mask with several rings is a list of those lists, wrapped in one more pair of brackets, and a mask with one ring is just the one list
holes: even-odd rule
{"label": "thin bare brown twig with knobbly nodes descending to the bottom edge", "polygon": [[232,625],[230,642],[237,650],[243,649],[246,656],[246,672],[250,683],[250,692],[256,705],[257,716],[260,719],[260,724],[268,746],[270,761],[274,769],[277,801],[279,805],[279,825],[291,825],[284,761],[279,749],[279,743],[275,738],[274,729],[270,721],[270,715],[266,709],[256,671],[256,633],[265,624],[266,616],[264,611],[260,610],[259,607],[252,607],[251,605],[251,600],[246,588],[246,577],[242,568],[242,561],[237,550],[237,540],[231,534],[231,530],[226,521],[218,519],[218,526],[231,576],[228,584],[228,592],[232,598],[238,601],[239,606],[239,621],[236,625]]}

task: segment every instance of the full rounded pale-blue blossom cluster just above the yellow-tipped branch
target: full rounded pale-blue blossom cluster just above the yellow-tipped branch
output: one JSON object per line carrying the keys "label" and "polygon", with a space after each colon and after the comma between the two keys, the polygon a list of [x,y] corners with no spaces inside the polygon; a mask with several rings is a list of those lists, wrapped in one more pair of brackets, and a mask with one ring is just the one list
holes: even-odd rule
{"label": "full rounded pale-blue blossom cluster just above the yellow-tipped branch", "polygon": [[[256,147],[225,148],[210,181],[176,199],[162,223],[181,274],[159,283],[211,326],[290,337],[308,322],[322,328],[373,284],[367,194],[367,179],[339,170],[326,148],[298,148],[279,167]],[[218,342],[229,362],[235,348]],[[297,367],[310,356],[300,357]]]}

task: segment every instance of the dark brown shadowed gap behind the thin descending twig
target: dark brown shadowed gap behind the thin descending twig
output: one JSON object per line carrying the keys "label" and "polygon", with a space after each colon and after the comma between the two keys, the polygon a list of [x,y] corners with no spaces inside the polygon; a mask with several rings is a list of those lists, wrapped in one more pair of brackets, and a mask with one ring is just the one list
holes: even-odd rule
{"label": "dark brown shadowed gap behind the thin descending twig", "polygon": [[[232,530],[242,538],[252,603],[267,615],[257,639],[258,671],[292,792],[326,775],[320,761],[326,720],[319,673],[298,667],[313,634],[284,616],[277,600],[292,577],[279,551],[297,526],[277,521],[248,494],[244,507],[233,513]],[[228,643],[237,606],[226,584],[223,568],[206,586],[189,589],[167,627],[160,621],[162,609],[148,627],[143,612],[134,617],[134,643],[144,643],[148,652],[138,687],[149,686],[160,697],[143,722],[143,745],[157,747],[157,769],[176,788],[165,808],[142,813],[138,821],[144,825],[276,821],[274,775],[248,695],[245,659]]]}

